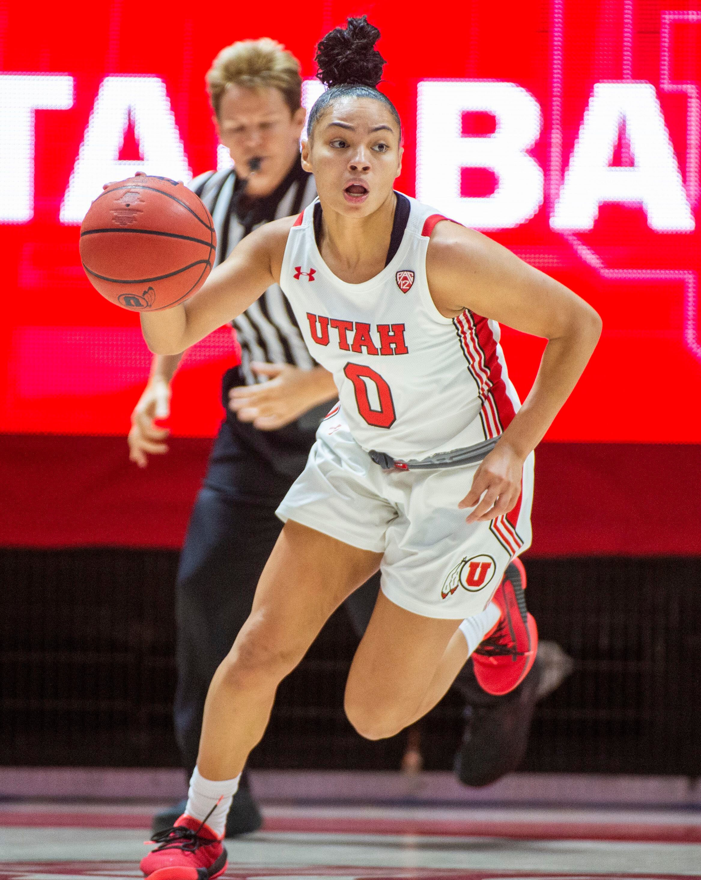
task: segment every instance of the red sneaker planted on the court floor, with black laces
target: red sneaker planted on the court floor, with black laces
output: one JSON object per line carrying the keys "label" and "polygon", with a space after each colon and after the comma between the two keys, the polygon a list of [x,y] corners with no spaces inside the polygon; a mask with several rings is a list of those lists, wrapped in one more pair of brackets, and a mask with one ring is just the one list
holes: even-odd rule
{"label": "red sneaker planted on the court floor, with black laces", "polygon": [[151,838],[160,844],[142,858],[140,868],[149,880],[214,880],[228,864],[222,839],[192,816],[183,814]]}

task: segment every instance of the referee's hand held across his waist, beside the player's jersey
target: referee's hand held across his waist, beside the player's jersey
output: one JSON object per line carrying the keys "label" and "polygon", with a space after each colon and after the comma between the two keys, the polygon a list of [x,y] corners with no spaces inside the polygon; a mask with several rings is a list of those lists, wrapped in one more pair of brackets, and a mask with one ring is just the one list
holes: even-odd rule
{"label": "referee's hand held across his waist, beside the player's jersey", "polygon": [[229,392],[229,408],[239,422],[252,422],[254,428],[274,431],[316,407],[319,396],[317,370],[300,370],[288,363],[252,362],[251,369],[268,376],[260,385],[237,385]]}

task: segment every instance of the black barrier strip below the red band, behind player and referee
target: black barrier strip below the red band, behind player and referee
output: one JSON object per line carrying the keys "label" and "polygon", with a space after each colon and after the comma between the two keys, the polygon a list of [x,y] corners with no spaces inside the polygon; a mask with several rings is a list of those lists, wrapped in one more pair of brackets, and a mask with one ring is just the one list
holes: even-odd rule
{"label": "black barrier strip below the red band, behind player and referee", "polygon": [[[526,559],[529,608],[573,675],[539,704],[523,769],[697,775],[701,560]],[[179,766],[171,550],[0,549],[0,763]],[[342,707],[356,639],[329,621],[280,688],[251,766],[398,769],[405,733],[370,743]],[[463,730],[454,692],[422,724],[426,768]]]}

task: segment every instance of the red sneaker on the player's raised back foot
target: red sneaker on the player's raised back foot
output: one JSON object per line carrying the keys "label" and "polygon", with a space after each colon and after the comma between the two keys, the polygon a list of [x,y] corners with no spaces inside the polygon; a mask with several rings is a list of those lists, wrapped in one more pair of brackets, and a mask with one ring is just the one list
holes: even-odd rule
{"label": "red sneaker on the player's raised back foot", "polygon": [[536,621],[526,608],[526,569],[515,557],[494,593],[501,617],[472,652],[475,678],[486,693],[513,691],[529,674],[538,649]]}

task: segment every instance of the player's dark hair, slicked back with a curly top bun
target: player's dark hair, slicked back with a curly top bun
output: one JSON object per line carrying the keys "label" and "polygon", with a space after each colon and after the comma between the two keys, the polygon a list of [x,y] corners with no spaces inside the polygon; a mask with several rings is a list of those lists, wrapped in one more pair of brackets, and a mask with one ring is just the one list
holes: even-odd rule
{"label": "player's dark hair, slicked back with a curly top bun", "polygon": [[375,48],[379,38],[380,32],[363,15],[362,18],[348,18],[346,27],[334,27],[323,40],[319,40],[317,78],[328,88],[310,110],[307,124],[310,135],[326,107],[340,97],[382,101],[390,108],[401,132],[402,123],[397,108],[377,89],[385,64],[383,56]]}

